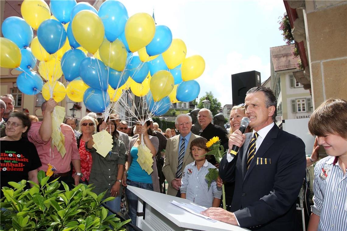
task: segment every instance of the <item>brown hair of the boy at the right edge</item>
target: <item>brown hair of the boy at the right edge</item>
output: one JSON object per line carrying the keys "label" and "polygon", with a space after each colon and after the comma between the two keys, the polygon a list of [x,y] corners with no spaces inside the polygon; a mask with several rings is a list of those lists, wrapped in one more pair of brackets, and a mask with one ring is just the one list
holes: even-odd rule
{"label": "brown hair of the boy at the right edge", "polygon": [[312,113],[308,130],[312,135],[336,134],[347,139],[347,101],[331,98],[325,100]]}

